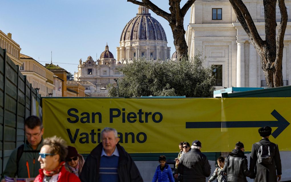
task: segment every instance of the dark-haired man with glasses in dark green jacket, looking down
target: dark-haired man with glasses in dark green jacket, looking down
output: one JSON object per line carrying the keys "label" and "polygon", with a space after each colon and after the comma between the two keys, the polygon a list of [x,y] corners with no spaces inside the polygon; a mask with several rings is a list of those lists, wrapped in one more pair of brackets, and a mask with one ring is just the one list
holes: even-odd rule
{"label": "dark-haired man with glasses in dark green jacket, looking down", "polygon": [[5,182],[4,176],[34,178],[38,175],[38,153],[42,147],[43,130],[42,122],[37,116],[29,116],[24,121],[26,142],[11,153],[1,182]]}

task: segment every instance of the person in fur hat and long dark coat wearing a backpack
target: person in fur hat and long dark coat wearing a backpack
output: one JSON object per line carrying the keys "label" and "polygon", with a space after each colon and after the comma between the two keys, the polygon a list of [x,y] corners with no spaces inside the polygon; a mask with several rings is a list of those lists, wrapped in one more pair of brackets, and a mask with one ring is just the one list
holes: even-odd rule
{"label": "person in fur hat and long dark coat wearing a backpack", "polygon": [[260,142],[253,144],[250,171],[255,173],[254,182],[276,182],[281,180],[282,166],[277,144],[270,142],[272,128],[264,126],[259,129]]}

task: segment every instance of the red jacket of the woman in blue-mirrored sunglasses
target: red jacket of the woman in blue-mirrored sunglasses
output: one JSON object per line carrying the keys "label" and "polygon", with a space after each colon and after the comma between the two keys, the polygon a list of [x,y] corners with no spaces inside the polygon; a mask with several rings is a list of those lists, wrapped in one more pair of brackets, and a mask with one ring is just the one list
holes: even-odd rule
{"label": "red jacket of the woman in blue-mirrored sunglasses", "polygon": [[[43,170],[39,169],[39,175],[36,176],[33,182],[42,182],[45,174],[43,174]],[[58,182],[81,182],[78,176],[73,173],[68,172],[65,169],[65,166],[62,166],[61,171],[58,175]]]}

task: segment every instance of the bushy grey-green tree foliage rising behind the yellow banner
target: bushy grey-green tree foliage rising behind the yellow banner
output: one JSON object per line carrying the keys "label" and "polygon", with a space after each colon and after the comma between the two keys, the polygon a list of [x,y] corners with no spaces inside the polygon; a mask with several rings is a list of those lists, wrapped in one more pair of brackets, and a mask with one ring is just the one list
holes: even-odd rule
{"label": "bushy grey-green tree foliage rising behind the yellow banner", "polygon": [[[192,59],[180,61],[133,60],[119,68],[119,96],[186,96],[212,97],[215,78],[212,67],[203,67],[200,51]],[[109,88],[109,96],[117,96],[116,87]]]}

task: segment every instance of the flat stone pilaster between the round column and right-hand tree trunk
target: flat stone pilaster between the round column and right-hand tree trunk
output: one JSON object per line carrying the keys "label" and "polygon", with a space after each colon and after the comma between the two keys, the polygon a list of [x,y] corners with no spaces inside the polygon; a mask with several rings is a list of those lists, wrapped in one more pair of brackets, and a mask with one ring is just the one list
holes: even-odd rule
{"label": "flat stone pilaster between the round column and right-hand tree trunk", "polygon": [[250,43],[249,52],[249,87],[258,87],[257,83],[257,51],[252,43]]}

